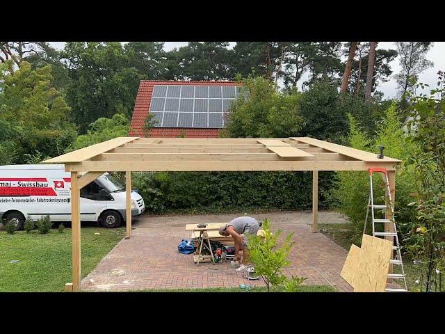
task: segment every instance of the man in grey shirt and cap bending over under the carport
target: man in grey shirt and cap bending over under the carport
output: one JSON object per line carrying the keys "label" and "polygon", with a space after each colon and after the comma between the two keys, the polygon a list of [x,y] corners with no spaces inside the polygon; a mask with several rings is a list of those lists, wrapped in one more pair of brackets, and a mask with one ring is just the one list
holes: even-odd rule
{"label": "man in grey shirt and cap bending over under the carport", "polygon": [[[249,250],[248,250],[248,237],[246,234],[257,235],[259,227],[261,225],[255,218],[252,217],[238,217],[234,218],[228,224],[225,224],[219,228],[220,235],[228,237],[232,235],[235,243],[235,257],[234,262],[239,261],[239,251],[243,250],[243,263],[236,269],[236,271],[246,271],[248,268]],[[243,236],[241,236],[243,234]]]}

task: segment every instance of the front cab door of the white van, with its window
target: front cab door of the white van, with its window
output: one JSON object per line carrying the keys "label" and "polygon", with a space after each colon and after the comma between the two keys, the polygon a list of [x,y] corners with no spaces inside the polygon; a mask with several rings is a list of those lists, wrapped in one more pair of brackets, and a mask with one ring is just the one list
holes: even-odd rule
{"label": "front cab door of the white van, with its window", "polygon": [[97,214],[103,212],[112,196],[95,181],[81,189],[81,221],[97,221]]}

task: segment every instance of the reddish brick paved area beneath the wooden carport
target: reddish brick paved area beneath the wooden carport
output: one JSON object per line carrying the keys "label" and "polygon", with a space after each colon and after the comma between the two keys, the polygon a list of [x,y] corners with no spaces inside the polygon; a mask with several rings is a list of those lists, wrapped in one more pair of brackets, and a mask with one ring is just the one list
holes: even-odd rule
{"label": "reddish brick paved area beneath the wooden carport", "polygon": [[[240,216],[243,214],[239,214]],[[179,289],[196,287],[238,287],[264,285],[234,273],[229,262],[223,264],[193,263],[193,255],[177,251],[181,239],[189,239],[186,223],[229,221],[237,214],[199,216],[146,216],[133,223],[132,237],[123,239],[97,267],[82,280],[86,290]],[[332,285],[339,291],[353,291],[340,277],[347,252],[321,233],[312,233],[310,212],[257,214],[272,221],[272,230],[294,232],[291,265],[286,274],[307,278],[308,285]],[[334,212],[320,212],[323,223],[342,222]]]}

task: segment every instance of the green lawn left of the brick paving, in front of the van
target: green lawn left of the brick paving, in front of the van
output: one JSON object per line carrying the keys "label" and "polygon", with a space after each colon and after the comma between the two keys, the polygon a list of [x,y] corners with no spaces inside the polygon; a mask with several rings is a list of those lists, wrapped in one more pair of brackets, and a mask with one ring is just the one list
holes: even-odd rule
{"label": "green lawn left of the brick paving, in front of the van", "polygon": [[[100,235],[95,235],[99,232]],[[82,277],[124,237],[124,228],[81,228]],[[19,260],[10,263],[11,260]],[[72,281],[71,229],[0,231],[0,292],[61,292]]]}

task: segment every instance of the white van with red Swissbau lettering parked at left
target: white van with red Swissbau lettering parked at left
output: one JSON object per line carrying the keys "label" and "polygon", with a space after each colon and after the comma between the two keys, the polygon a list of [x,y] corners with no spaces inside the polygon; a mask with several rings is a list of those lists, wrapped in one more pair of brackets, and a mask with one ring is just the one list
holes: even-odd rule
{"label": "white van with red Swissbau lettering parked at left", "polygon": [[[97,221],[117,228],[125,221],[125,189],[104,173],[81,189],[81,221]],[[131,192],[131,216],[145,211],[143,198]],[[0,219],[23,229],[26,217],[34,221],[71,221],[71,174],[63,165],[0,166]]]}

